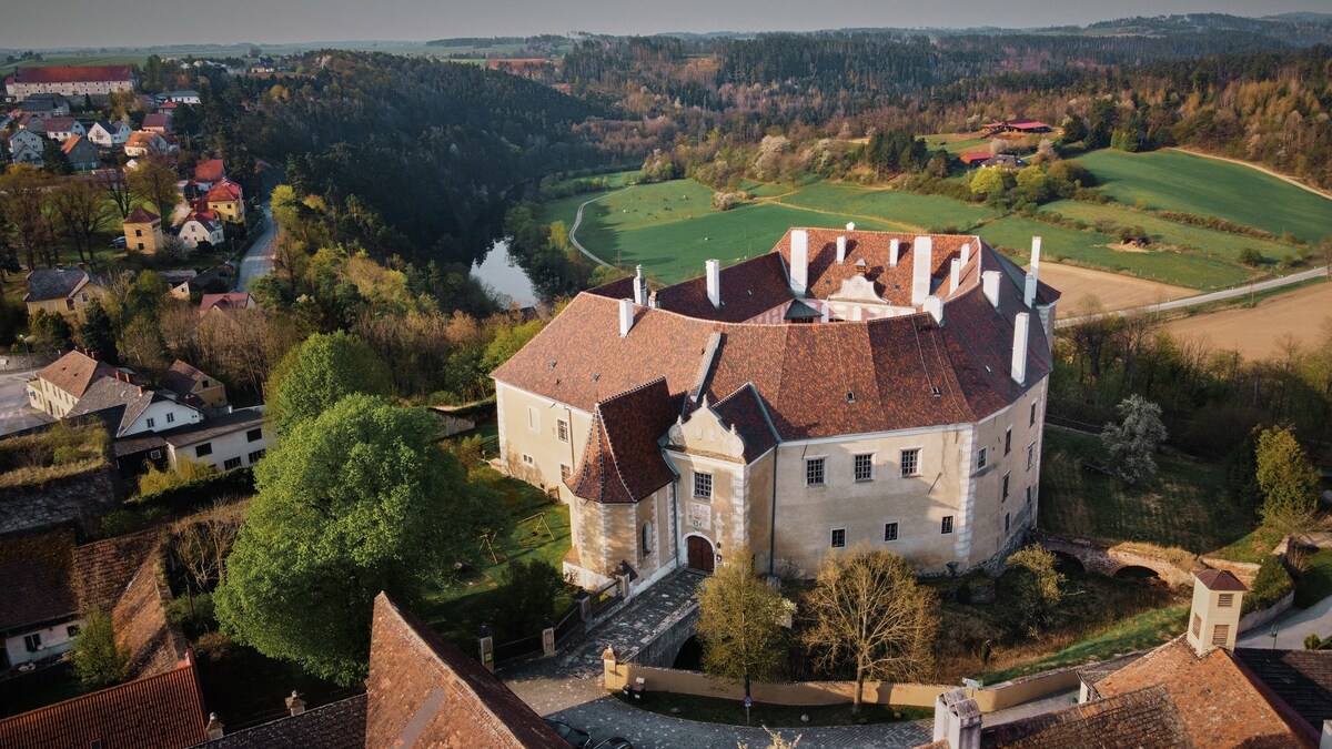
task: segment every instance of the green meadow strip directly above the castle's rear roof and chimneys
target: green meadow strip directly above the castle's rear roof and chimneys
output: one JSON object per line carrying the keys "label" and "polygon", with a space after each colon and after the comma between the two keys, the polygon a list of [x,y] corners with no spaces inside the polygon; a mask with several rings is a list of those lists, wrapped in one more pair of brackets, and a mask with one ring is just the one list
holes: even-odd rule
{"label": "green meadow strip directly above the castle's rear roof and chimneys", "polygon": [[994,219],[983,205],[962,203],[938,195],[915,195],[891,189],[818,183],[782,197],[785,205],[826,211],[852,221],[878,220],[903,224],[908,231],[951,227],[959,232]]}

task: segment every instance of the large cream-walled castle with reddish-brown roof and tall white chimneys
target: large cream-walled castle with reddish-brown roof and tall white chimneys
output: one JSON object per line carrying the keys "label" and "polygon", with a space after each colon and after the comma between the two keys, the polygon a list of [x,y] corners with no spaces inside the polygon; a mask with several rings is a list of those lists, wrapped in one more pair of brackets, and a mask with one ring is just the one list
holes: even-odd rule
{"label": "large cream-walled castle with reddish-brown roof and tall white chimneys", "polygon": [[1058,292],[975,236],[791,229],[653,292],[583,292],[492,376],[501,460],[570,504],[565,569],[710,572],[747,546],[927,572],[1002,558],[1035,525]]}

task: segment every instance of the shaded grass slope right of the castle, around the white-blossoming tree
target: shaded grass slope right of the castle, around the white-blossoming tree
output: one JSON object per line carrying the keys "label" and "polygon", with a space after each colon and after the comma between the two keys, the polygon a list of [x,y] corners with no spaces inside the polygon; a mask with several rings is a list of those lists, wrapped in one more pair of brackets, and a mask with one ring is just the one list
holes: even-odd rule
{"label": "shaded grass slope right of the castle, around the white-blossoming tree", "polygon": [[1046,429],[1040,466],[1040,526],[1056,536],[1104,545],[1146,541],[1208,553],[1255,522],[1225,493],[1215,465],[1158,454],[1159,473],[1142,488],[1082,468],[1102,461],[1098,437]]}

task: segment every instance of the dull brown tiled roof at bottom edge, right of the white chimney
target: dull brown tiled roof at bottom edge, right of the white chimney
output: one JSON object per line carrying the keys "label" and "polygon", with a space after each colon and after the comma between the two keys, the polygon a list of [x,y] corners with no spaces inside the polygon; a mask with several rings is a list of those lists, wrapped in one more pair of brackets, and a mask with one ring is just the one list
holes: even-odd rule
{"label": "dull brown tiled roof at bottom edge, right of the white chimney", "polygon": [[1159,685],[984,728],[980,745],[987,749],[1201,746],[1189,738],[1169,692]]}

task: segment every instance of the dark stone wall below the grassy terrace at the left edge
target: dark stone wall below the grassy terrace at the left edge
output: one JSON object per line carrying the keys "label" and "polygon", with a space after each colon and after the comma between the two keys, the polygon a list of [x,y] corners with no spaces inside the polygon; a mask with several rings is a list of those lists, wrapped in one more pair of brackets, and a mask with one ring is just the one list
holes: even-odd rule
{"label": "dark stone wall below the grassy terrace at the left edge", "polygon": [[43,485],[0,489],[0,536],[73,522],[79,534],[88,537],[117,506],[109,466]]}

